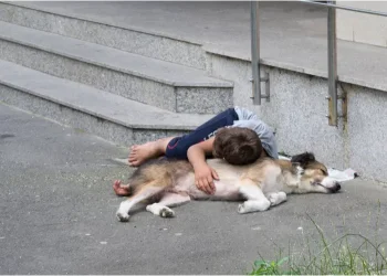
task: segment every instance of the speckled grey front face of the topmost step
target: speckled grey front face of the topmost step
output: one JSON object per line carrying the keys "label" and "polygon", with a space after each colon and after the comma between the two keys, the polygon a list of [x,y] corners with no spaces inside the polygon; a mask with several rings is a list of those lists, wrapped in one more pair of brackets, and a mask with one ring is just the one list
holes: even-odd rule
{"label": "speckled grey front face of the topmost step", "polygon": [[43,2],[2,2],[0,20],[161,61],[206,68],[206,52],[198,43],[168,38],[167,34],[161,36],[139,28],[129,29],[116,24],[114,20],[96,21],[84,14],[74,15],[69,9],[53,12]]}

